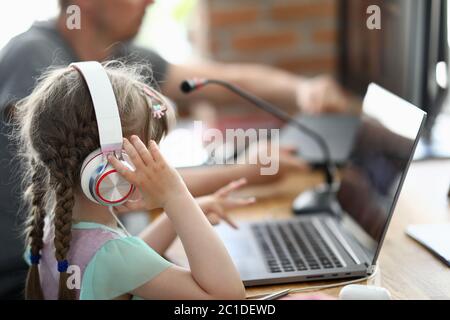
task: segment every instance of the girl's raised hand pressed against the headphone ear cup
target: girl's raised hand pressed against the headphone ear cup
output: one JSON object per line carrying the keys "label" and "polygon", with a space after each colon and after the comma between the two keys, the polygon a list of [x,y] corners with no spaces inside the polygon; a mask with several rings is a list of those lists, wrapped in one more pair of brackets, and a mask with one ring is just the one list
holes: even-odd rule
{"label": "girl's raised hand pressed against the headphone ear cup", "polygon": [[136,168],[134,171],[112,155],[108,156],[108,161],[120,175],[140,189],[146,207],[165,208],[171,199],[189,193],[178,172],[159,152],[155,141],[150,142],[149,150],[138,136],[133,135],[131,142],[123,139],[123,147]]}

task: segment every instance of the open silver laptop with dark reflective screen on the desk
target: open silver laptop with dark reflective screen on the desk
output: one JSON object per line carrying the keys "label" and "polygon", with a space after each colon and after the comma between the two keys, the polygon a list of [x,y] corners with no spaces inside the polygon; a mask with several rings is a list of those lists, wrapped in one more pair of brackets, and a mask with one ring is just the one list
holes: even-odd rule
{"label": "open silver laptop with dark reflective screen on the desk", "polygon": [[426,114],[376,84],[363,102],[334,212],[216,227],[246,286],[375,270]]}

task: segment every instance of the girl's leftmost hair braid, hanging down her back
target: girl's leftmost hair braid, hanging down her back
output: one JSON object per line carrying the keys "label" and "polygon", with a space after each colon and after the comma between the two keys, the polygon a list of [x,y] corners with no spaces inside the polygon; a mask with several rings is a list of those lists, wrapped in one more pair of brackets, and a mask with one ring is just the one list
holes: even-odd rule
{"label": "girl's leftmost hair braid, hanging down her back", "polygon": [[[28,270],[25,298],[42,300],[44,298],[39,277],[39,258],[44,246],[44,220],[47,175],[45,167],[34,159],[30,164],[31,181],[25,192],[25,198],[30,204],[29,216],[26,221],[26,239],[30,248],[31,266]],[[30,256],[30,258],[31,258]]]}

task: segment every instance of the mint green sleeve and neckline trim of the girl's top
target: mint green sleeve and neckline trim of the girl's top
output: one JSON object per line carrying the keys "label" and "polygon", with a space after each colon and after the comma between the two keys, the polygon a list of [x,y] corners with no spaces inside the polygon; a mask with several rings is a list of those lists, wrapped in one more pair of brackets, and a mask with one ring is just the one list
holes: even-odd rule
{"label": "mint green sleeve and neckline trim of the girl's top", "polygon": [[81,282],[80,300],[114,299],[172,266],[142,239],[126,236],[121,230],[91,222],[79,222],[73,228],[102,228],[120,236],[107,241],[89,261]]}

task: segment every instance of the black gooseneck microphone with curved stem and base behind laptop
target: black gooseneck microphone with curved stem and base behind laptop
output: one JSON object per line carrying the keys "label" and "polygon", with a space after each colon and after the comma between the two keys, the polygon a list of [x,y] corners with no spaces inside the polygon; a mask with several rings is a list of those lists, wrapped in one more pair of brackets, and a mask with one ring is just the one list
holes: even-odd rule
{"label": "black gooseneck microphone with curved stem and base behind laptop", "polygon": [[273,115],[275,118],[286,122],[287,124],[297,128],[297,130],[302,131],[304,134],[311,137],[319,146],[323,159],[324,166],[323,172],[325,175],[326,185],[319,187],[312,191],[306,191],[294,200],[293,210],[296,213],[316,213],[323,211],[335,211],[335,171],[336,166],[331,159],[330,148],[323,137],[306,127],[294,117],[289,115],[287,112],[277,108],[271,103],[239,88],[236,85],[228,83],[226,81],[217,79],[189,79],[184,80],[180,85],[180,90],[185,94],[189,94],[193,91],[199,90],[206,85],[215,84],[228,89],[229,91],[235,93],[239,97],[251,102],[253,105],[265,112]]}

